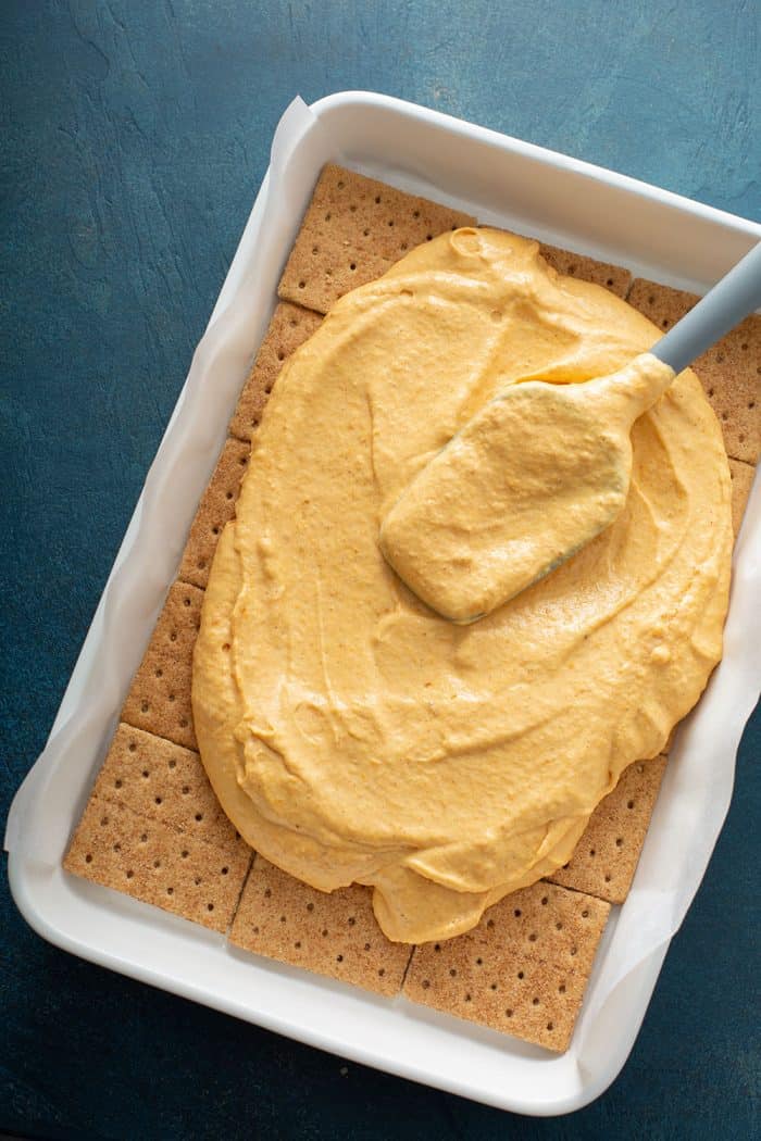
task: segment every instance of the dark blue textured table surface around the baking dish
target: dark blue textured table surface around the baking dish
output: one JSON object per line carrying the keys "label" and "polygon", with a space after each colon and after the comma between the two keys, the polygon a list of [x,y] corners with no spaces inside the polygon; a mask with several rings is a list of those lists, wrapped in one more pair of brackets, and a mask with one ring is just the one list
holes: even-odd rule
{"label": "dark blue textured table surface around the baking dish", "polygon": [[[759,8],[6,0],[1,811],[52,722],[292,96],[398,95],[759,219]],[[0,1130],[751,1138],[761,718],[614,1086],[554,1120],[365,1069],[70,957],[0,876]],[[758,1133],[756,1133],[758,1135]]]}

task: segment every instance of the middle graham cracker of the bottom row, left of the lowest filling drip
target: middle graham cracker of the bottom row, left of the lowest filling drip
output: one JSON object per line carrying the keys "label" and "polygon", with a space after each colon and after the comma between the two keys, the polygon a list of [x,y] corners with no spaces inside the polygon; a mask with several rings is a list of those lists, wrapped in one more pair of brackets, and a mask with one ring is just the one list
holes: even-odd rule
{"label": "middle graham cracker of the bottom row, left of the lowest filling drip", "polygon": [[230,942],[382,995],[398,994],[412,954],[378,926],[369,888],[330,893],[294,880],[257,856]]}

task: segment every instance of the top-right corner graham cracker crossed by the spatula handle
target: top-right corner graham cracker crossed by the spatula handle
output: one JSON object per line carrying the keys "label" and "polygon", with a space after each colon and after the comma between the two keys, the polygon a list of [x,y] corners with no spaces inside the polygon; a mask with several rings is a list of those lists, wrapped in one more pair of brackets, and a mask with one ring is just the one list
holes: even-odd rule
{"label": "top-right corner graham cracker crossed by the spatula handle", "polygon": [[[638,277],[628,301],[665,332],[699,297]],[[761,316],[746,317],[698,357],[693,369],[721,424],[727,455],[756,463],[761,451]]]}

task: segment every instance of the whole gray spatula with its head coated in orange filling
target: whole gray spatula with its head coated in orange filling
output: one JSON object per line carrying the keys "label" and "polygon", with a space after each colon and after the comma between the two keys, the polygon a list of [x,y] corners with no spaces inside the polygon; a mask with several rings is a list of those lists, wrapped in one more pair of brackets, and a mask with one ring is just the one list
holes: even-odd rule
{"label": "whole gray spatula with its head coated in orange filling", "polygon": [[621,512],[637,418],[759,306],[761,243],[649,354],[617,373],[507,388],[386,515],[379,545],[388,563],[419,598],[458,623],[475,622],[537,582]]}

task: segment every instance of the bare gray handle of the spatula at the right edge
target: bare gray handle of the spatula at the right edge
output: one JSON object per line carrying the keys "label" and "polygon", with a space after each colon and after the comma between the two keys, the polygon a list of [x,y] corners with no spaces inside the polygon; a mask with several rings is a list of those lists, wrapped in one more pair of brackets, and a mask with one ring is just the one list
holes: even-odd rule
{"label": "bare gray handle of the spatula at the right edge", "polygon": [[679,373],[761,306],[761,242],[650,349]]}

